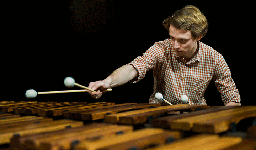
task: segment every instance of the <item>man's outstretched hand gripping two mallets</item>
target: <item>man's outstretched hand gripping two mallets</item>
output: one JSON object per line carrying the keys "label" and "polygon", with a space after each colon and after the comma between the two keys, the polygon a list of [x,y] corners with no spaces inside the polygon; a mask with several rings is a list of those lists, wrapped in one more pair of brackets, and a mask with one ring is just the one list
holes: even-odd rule
{"label": "man's outstretched hand gripping two mallets", "polygon": [[102,94],[107,92],[106,90],[110,87],[110,85],[105,81],[96,81],[89,83],[88,87],[96,92],[91,92],[89,90],[87,90],[87,92],[91,94],[93,98],[98,99],[102,96]]}

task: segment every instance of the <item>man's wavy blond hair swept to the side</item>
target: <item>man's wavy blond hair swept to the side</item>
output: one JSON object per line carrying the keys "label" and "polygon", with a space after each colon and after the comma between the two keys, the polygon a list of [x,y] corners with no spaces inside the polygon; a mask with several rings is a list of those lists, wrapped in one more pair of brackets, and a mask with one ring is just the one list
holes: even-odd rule
{"label": "man's wavy blond hair swept to the side", "polygon": [[203,13],[192,5],[186,5],[181,10],[177,10],[172,16],[162,21],[164,27],[169,31],[170,25],[176,29],[190,31],[194,38],[202,35],[204,37],[208,31],[208,22]]}

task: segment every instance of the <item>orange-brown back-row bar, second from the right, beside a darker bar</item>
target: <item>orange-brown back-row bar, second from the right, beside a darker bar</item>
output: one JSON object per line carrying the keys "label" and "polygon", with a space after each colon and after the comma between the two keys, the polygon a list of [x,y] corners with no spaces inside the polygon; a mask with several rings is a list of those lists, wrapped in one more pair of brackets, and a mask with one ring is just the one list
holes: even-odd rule
{"label": "orange-brown back-row bar, second from the right, beside a darker bar", "polygon": [[256,107],[255,106],[242,106],[242,107],[237,106],[236,108],[232,108],[228,110],[192,116],[189,118],[177,119],[177,120],[171,121],[169,125],[171,129],[190,131],[193,128],[194,123],[210,120],[214,118],[220,119],[221,117],[224,117],[224,116],[239,114],[244,111],[250,111],[250,110],[256,110]]}

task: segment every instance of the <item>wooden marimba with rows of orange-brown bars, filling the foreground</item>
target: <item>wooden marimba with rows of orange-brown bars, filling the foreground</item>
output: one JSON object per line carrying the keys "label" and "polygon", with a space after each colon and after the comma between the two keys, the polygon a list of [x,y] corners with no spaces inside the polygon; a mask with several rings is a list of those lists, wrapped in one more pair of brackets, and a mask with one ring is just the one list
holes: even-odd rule
{"label": "wooden marimba with rows of orange-brown bars, filling the foreground", "polygon": [[36,101],[0,106],[1,149],[4,144],[54,150],[256,147],[256,106]]}

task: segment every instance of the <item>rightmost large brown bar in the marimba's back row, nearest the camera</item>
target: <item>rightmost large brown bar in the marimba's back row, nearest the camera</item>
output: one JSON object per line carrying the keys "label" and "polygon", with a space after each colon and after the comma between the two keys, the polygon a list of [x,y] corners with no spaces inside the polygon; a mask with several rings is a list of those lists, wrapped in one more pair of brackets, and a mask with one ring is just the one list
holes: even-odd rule
{"label": "rightmost large brown bar in the marimba's back row, nearest the camera", "polygon": [[256,117],[255,110],[244,111],[219,118],[209,119],[194,123],[194,132],[221,133],[231,129],[231,123],[238,124],[242,119]]}

